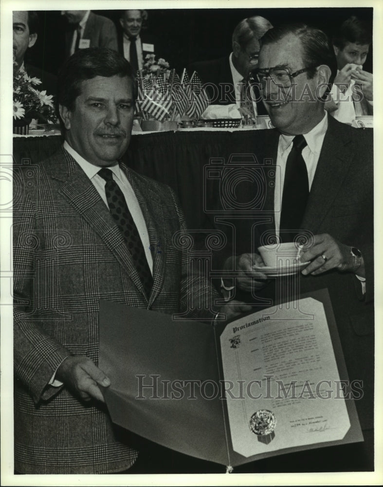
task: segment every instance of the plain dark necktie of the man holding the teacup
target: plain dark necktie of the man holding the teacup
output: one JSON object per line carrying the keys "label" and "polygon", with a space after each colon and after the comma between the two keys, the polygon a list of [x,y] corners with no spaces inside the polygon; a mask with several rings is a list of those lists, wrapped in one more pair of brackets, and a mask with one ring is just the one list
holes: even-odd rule
{"label": "plain dark necktie of the man holding the teacup", "polygon": [[309,197],[309,177],[302,150],[307,146],[303,135],[292,140],[283,183],[282,211],[279,225],[282,242],[292,242],[303,220]]}

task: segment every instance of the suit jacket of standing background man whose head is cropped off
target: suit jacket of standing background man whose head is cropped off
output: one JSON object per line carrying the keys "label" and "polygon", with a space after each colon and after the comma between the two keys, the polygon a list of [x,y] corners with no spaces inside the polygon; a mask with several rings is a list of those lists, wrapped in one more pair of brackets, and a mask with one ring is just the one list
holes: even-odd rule
{"label": "suit jacket of standing background man whose head is cropped off", "polygon": [[[117,30],[114,22],[102,15],[89,14],[85,25],[83,39],[90,39],[89,47],[109,47],[117,51]],[[73,30],[68,29],[65,34],[66,57],[70,56],[73,39]]]}

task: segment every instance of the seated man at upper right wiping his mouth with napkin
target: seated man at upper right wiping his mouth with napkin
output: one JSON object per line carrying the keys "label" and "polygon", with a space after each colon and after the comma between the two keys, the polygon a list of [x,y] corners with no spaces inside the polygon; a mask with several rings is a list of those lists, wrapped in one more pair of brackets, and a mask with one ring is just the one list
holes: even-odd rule
{"label": "seated man at upper right wiping his mouth with napkin", "polygon": [[371,29],[354,16],[332,39],[338,73],[330,92],[336,107],[330,113],[340,122],[351,124],[357,116],[373,115],[372,74],[363,70],[371,42]]}

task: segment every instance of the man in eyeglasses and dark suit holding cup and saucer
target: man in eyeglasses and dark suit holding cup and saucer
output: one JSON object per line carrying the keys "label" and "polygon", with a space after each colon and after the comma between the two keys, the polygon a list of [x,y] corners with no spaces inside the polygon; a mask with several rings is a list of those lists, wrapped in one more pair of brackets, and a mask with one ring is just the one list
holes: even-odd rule
{"label": "man in eyeglasses and dark suit holding cup and saucer", "polygon": [[[363,397],[355,403],[365,443],[348,445],[347,454],[346,447],[322,449],[320,456],[315,455],[316,462],[309,452],[300,452],[291,455],[292,470],[280,471],[294,471],[294,461],[305,465],[306,471],[371,470],[372,131],[354,129],[325,112],[324,99],[328,82],[336,74],[336,63],[326,35],[318,29],[300,24],[269,30],[261,39],[254,74],[276,127],[256,137],[255,151],[258,161],[268,161],[268,168],[274,169],[266,167],[262,212],[254,212],[247,221],[238,219],[237,255],[232,253],[224,268],[238,273],[234,282],[237,298],[242,293],[241,299],[252,300],[255,306],[254,296],[258,303],[265,297],[278,300],[281,289],[291,293],[289,278],[266,281],[264,273],[255,272],[254,265],[264,266],[255,249],[270,243],[265,242],[266,235],[274,234],[282,242],[299,242],[299,235],[306,232],[310,245],[301,252],[300,261],[310,263],[301,271],[297,289],[301,294],[328,289],[349,379],[363,383]],[[251,201],[254,195],[249,191],[247,199],[240,196]],[[274,217],[270,217],[273,211]],[[223,284],[230,286],[227,280]]]}

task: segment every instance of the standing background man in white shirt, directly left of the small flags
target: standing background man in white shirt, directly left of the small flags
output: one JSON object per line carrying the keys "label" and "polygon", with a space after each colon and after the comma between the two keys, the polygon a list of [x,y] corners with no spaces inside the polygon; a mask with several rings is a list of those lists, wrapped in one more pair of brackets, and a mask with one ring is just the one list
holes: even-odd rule
{"label": "standing background man in white shirt, directly left of the small flags", "polygon": [[147,54],[158,53],[156,38],[142,29],[147,19],[144,10],[121,10],[120,26],[118,31],[118,51],[128,59],[133,71],[142,69]]}

